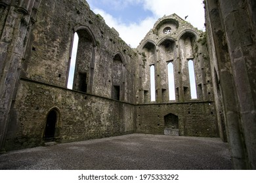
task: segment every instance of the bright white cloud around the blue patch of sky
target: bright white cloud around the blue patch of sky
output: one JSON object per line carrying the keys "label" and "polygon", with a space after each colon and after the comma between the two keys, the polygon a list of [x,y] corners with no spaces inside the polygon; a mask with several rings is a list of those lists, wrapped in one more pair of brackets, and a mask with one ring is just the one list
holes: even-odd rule
{"label": "bright white cloud around the blue patch of sky", "polygon": [[170,15],[176,13],[178,16],[186,21],[190,22],[194,27],[198,29],[204,29],[204,10],[202,0],[104,0],[105,3],[111,3],[116,7],[125,7],[131,5],[131,3],[142,3],[145,10],[150,10],[154,16],[145,18],[139,24],[131,23],[125,24],[121,20],[114,18],[112,15],[100,10],[99,8],[93,8],[96,14],[100,14],[106,24],[110,27],[114,27],[127,44],[130,44],[133,48],[139,45],[146,33],[152,29],[158,18],[164,15]]}

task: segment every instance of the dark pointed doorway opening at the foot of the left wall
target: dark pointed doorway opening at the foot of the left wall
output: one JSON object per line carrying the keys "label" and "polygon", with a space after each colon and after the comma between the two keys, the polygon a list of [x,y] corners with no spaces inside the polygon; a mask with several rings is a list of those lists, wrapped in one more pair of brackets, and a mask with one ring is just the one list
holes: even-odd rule
{"label": "dark pointed doorway opening at the foot of the left wall", "polygon": [[47,116],[47,122],[45,126],[45,142],[54,141],[55,126],[57,121],[57,114],[55,110],[51,110]]}

